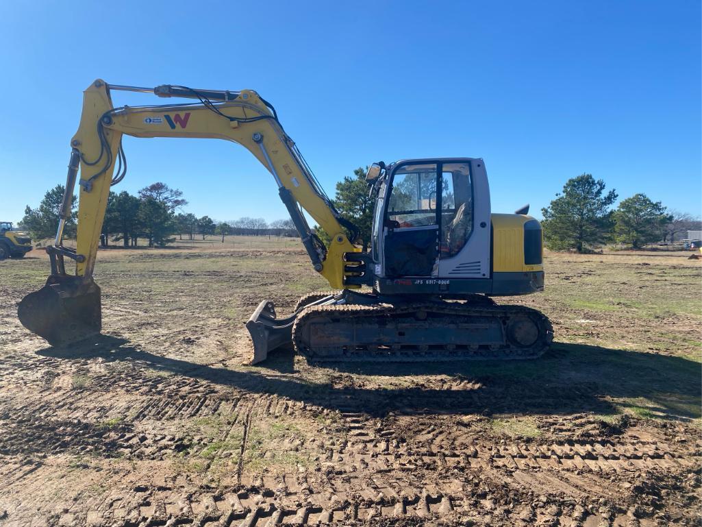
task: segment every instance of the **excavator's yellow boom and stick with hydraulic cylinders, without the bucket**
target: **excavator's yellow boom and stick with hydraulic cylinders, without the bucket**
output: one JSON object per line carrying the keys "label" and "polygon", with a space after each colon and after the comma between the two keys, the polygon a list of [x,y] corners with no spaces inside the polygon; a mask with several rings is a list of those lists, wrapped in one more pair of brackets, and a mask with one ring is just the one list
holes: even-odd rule
{"label": "excavator's yellow boom and stick with hydraulic cylinders, without the bucket", "polygon": [[[244,146],[270,171],[314,269],[331,287],[344,287],[343,255],[358,249],[347,239],[340,223],[343,219],[314,181],[273,108],[258,93],[158,86],[152,90],[158,96],[197,98],[201,103],[113,108],[110,89],[115,88],[145,90],[95,81],[85,91],[81,124],[71,141],[81,160],[77,253],[85,256],[85,260],[77,262],[77,275],[89,277],[93,273],[114,164],[121,157],[122,134],[147,138],[217,138]],[[300,207],[331,235],[329,254],[324,254],[324,246],[314,240]]]}

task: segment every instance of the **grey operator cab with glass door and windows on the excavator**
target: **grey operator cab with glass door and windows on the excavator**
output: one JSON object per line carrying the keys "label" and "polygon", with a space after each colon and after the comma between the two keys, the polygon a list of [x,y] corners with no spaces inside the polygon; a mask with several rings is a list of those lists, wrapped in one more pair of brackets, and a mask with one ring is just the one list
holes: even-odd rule
{"label": "grey operator cab with glass door and windows on the excavator", "polygon": [[490,193],[480,159],[373,164],[380,278],[489,278]]}

